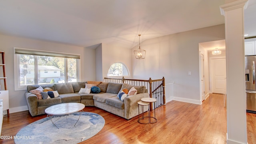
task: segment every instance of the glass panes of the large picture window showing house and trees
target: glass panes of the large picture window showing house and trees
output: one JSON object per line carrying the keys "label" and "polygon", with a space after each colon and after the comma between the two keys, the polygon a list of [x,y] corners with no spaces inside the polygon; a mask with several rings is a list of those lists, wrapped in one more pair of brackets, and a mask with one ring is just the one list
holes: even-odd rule
{"label": "glass panes of the large picture window showing house and trees", "polygon": [[[21,51],[21,52],[20,52]],[[31,84],[54,84],[76,82],[78,78],[78,58],[53,53],[50,56],[24,54],[27,51],[15,50],[18,62],[18,88]],[[46,55],[46,54],[44,54]],[[80,57],[79,57],[80,58]]]}

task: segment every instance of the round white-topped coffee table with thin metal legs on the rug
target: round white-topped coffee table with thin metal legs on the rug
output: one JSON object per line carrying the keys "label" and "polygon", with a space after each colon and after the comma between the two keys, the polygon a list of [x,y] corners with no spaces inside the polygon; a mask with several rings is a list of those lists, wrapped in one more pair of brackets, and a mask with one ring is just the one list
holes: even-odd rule
{"label": "round white-topped coffee table with thin metal legs on the rug", "polygon": [[[56,104],[54,106],[50,106],[49,108],[46,108],[44,110],[44,112],[47,114],[47,117],[50,118],[50,120],[52,121],[52,118],[54,117],[54,115],[62,115],[62,116],[68,116],[69,114],[72,114],[74,112],[78,112],[78,111],[83,111],[84,109],[84,104],[81,103],[63,103],[63,104]],[[81,113],[79,114],[79,117],[77,118],[79,120]],[[60,118],[62,117],[60,116]],[[72,115],[70,115],[72,116]],[[74,116],[73,116],[74,117]],[[57,120],[59,120],[60,118],[58,118]],[[74,117],[76,118],[76,117]],[[56,126],[55,122],[57,121],[52,121],[52,124],[54,124],[54,126]],[[76,123],[78,122],[78,120],[76,121]],[[74,125],[76,126],[76,124]],[[58,128],[56,126],[56,128]]]}

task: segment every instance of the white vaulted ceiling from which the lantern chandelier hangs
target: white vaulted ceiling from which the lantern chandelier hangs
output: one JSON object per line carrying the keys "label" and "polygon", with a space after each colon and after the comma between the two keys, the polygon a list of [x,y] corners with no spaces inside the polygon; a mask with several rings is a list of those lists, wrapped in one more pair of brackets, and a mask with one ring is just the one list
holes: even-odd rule
{"label": "white vaulted ceiling from which the lantern chandelier hangs", "polygon": [[[140,40],[224,24],[225,0],[0,0],[0,33],[96,48],[132,48]],[[256,36],[256,0],[245,33]]]}

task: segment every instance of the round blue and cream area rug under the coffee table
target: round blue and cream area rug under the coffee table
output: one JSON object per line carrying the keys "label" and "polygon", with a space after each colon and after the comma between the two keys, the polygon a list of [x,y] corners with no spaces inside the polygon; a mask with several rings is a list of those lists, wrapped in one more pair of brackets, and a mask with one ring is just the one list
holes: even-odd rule
{"label": "round blue and cream area rug under the coffee table", "polygon": [[[104,127],[105,120],[99,114],[79,112],[69,116],[42,118],[22,128],[15,136],[15,144],[77,144],[91,138]],[[76,121],[78,122],[76,123]],[[76,125],[75,125],[76,124]],[[75,126],[74,126],[75,125]]]}

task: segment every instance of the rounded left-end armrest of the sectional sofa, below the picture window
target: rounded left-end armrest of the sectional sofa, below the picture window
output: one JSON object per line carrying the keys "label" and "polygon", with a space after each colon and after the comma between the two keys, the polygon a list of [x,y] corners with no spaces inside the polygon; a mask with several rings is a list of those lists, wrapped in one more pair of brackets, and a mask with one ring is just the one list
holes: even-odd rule
{"label": "rounded left-end armrest of the sectional sofa, below the picture window", "polygon": [[28,105],[28,111],[30,112],[31,116],[38,115],[37,107],[38,107],[38,98],[35,94],[31,92],[25,92],[25,97]]}

